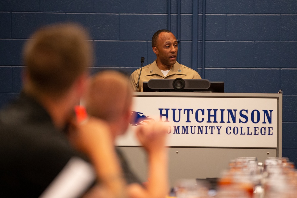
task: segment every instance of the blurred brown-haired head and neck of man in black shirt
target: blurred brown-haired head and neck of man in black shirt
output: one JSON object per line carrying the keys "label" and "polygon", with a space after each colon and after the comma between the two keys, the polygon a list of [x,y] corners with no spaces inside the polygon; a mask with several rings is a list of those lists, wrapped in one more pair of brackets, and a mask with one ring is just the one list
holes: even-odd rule
{"label": "blurred brown-haired head and neck of man in black shirt", "polygon": [[57,127],[69,119],[86,89],[92,64],[89,34],[77,24],[37,30],[23,48],[23,91],[48,111]]}

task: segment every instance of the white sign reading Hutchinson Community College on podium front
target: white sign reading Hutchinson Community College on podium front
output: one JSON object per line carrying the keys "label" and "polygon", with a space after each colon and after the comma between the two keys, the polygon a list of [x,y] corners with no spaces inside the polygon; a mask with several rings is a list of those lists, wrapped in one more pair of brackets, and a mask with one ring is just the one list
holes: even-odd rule
{"label": "white sign reading Hutchinson Community College on podium front", "polygon": [[168,146],[277,147],[276,98],[134,99],[131,130],[153,120],[167,123]]}

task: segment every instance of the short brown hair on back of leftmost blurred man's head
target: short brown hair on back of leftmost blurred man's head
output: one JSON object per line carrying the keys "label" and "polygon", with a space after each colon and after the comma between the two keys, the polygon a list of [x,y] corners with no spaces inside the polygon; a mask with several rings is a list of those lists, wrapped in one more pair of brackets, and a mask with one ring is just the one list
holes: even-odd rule
{"label": "short brown hair on back of leftmost blurred man's head", "polygon": [[53,24],[25,43],[24,89],[59,97],[91,66],[89,34],[77,24]]}

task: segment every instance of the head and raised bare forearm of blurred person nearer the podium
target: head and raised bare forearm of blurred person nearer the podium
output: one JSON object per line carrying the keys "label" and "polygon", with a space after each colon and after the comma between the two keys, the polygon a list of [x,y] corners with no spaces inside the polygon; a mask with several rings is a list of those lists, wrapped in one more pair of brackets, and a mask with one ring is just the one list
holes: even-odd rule
{"label": "head and raised bare forearm of blurred person nearer the podium", "polygon": [[[131,119],[132,90],[129,80],[119,72],[105,71],[95,75],[86,97],[87,112],[105,120],[115,141],[117,135],[124,134]],[[136,136],[148,155],[149,182],[146,187],[129,170],[118,150],[125,179],[129,183],[127,193],[132,198],[164,198],[168,193],[168,156],[165,137],[168,128],[161,123],[141,126]]]}

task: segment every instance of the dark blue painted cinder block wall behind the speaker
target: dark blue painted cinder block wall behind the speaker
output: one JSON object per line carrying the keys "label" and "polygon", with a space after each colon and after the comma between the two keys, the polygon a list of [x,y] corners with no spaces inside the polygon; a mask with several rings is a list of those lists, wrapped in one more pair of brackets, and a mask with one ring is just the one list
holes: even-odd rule
{"label": "dark blue painted cinder block wall behind the speaker", "polygon": [[21,90],[21,50],[38,27],[79,22],[94,44],[92,71],[128,75],[155,59],[151,37],[170,29],[178,61],[225,92],[277,93],[283,88],[282,155],[297,164],[296,0],[1,0],[0,105]]}

